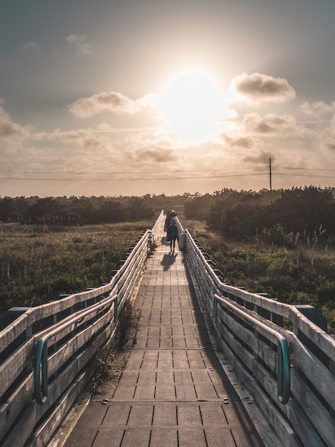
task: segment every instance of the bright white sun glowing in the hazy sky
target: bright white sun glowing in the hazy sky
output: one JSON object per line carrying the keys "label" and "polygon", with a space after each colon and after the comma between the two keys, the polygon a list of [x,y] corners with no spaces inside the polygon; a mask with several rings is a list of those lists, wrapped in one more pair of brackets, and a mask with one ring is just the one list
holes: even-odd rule
{"label": "bright white sun glowing in the hazy sky", "polygon": [[176,76],[159,100],[164,130],[189,143],[204,141],[217,131],[223,107],[223,94],[199,72]]}

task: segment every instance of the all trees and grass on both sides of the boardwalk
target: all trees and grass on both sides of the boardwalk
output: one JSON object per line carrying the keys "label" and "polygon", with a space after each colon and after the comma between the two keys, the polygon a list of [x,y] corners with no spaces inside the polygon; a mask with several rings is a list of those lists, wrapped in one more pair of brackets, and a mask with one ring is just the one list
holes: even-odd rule
{"label": "all trees and grass on both sides of the boardwalk", "polygon": [[99,286],[161,209],[178,212],[225,281],[315,306],[335,333],[335,189],[314,186],[182,196],[0,197],[0,313]]}

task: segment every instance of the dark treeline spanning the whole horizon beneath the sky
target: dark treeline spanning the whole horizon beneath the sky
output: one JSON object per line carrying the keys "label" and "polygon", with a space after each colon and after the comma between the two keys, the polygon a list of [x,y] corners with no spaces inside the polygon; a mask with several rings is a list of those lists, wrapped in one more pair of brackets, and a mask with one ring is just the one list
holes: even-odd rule
{"label": "dark treeline spanning the whole horizon beneath the sky", "polygon": [[315,186],[181,196],[0,197],[0,221],[22,224],[114,223],[151,219],[161,209],[206,221],[209,229],[236,241],[256,238],[296,246],[329,243],[335,237],[335,189]]}

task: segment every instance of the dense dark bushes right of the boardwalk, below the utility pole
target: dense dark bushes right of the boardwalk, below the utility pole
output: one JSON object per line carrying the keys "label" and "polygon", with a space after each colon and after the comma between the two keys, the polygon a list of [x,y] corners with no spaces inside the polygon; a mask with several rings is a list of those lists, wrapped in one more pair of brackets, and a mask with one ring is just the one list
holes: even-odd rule
{"label": "dense dark bushes right of the boardwalk, below the utility pole", "polygon": [[324,246],[335,238],[334,196],[335,189],[315,186],[258,193],[223,189],[187,200],[184,213],[236,241]]}

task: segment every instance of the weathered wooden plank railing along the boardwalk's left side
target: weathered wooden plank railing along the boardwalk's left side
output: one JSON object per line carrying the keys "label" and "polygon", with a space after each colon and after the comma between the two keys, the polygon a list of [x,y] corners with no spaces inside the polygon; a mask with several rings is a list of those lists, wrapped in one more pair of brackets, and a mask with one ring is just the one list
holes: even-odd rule
{"label": "weathered wooden plank railing along the boardwalk's left side", "polygon": [[[164,214],[97,288],[32,308],[12,308],[0,331],[0,445],[45,446],[109,348]],[[6,327],[4,327],[6,326]]]}

